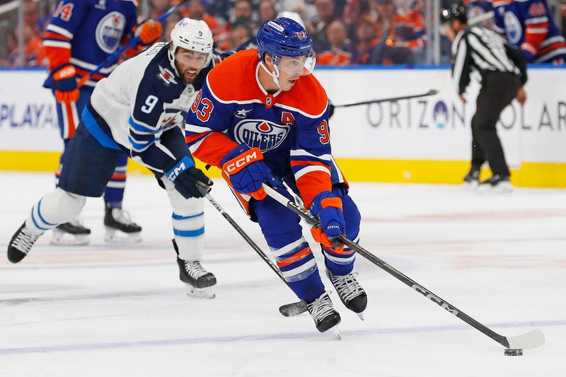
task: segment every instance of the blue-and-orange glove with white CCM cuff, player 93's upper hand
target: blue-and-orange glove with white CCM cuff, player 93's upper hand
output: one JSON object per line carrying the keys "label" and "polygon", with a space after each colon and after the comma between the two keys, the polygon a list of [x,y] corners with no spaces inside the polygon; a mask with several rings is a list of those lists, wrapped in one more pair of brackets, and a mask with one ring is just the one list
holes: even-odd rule
{"label": "blue-and-orange glove with white CCM cuff, player 93's upper hand", "polygon": [[261,200],[267,196],[262,182],[267,181],[271,185],[278,183],[263,161],[263,153],[259,148],[250,149],[246,144],[240,144],[229,151],[220,163],[233,189],[255,199]]}

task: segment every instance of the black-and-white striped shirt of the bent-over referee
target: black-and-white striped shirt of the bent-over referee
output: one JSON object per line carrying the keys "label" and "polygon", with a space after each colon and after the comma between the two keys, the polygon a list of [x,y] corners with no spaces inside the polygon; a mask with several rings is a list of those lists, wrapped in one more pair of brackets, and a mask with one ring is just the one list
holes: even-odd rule
{"label": "black-and-white striped shirt of the bent-over referee", "polygon": [[509,72],[521,76],[521,70],[507,55],[501,37],[481,26],[471,26],[456,35],[452,42],[452,56],[452,77],[458,94],[466,91],[470,76],[483,79],[487,72]]}

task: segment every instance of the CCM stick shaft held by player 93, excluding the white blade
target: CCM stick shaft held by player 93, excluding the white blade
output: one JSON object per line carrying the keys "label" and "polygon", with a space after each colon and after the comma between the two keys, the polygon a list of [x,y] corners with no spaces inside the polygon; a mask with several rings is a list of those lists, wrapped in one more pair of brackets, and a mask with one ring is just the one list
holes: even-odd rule
{"label": "CCM stick shaft held by player 93, excluding the white blade", "polygon": [[[264,183],[263,189],[265,190],[267,195],[277,200],[277,202],[283,204],[285,207],[291,209],[291,211],[294,211],[296,214],[301,216],[310,224],[320,225],[320,221],[318,221],[318,219],[316,219],[316,217],[314,217],[310,212],[306,211],[306,209],[302,209],[301,207],[297,206],[294,202],[291,202],[286,197],[279,194],[279,192],[273,190],[272,187]],[[509,341],[507,340],[506,337],[497,334],[497,332],[491,330],[489,327],[479,323],[477,320],[471,318],[466,313],[463,313],[463,311],[456,308],[456,306],[453,306],[451,303],[448,303],[443,298],[440,298],[439,296],[433,294],[431,291],[424,288],[424,286],[418,284],[417,282],[415,282],[415,280],[403,274],[403,272],[400,272],[398,269],[391,267],[386,262],[383,262],[383,260],[379,259],[379,257],[376,257],[368,250],[362,248],[362,246],[358,245],[357,243],[354,243],[352,240],[344,236],[340,237],[340,241],[349,248],[351,248],[352,250],[355,250],[359,255],[362,255],[362,257],[366,258],[366,260],[369,260],[369,262],[373,263],[377,267],[383,269],[388,274],[391,274],[391,276],[395,277],[396,279],[410,286],[411,289],[414,289],[418,293],[422,294],[422,296],[428,298],[430,301],[437,303],[438,306],[446,309],[446,311],[449,311],[449,313],[456,315],[456,317],[468,323],[468,325],[474,327],[476,330],[483,332],[485,335],[492,338],[492,340],[495,340],[495,342],[502,344],[502,346],[504,347],[507,348],[509,347]]]}

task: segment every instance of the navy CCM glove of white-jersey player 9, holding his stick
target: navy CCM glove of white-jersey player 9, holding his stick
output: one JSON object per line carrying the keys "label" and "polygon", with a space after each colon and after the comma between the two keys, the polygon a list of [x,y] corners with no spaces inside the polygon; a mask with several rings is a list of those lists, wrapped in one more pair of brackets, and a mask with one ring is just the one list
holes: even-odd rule
{"label": "navy CCM glove of white-jersey player 9, holding his stick", "polygon": [[[183,195],[185,199],[191,197],[204,197],[206,192],[209,191],[209,187],[212,186],[213,182],[208,178],[200,169],[195,168],[195,163],[190,157],[183,157],[180,161],[176,161],[175,166],[170,168],[167,173],[165,173],[168,180],[173,182],[175,185],[175,190],[177,190],[180,195]],[[204,185],[205,193],[199,190],[197,185]]]}

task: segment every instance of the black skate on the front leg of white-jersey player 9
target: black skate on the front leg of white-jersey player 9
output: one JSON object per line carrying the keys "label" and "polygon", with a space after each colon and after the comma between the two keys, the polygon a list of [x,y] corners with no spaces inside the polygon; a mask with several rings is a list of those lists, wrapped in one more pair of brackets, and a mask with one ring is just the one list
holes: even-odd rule
{"label": "black skate on the front leg of white-jersey player 9", "polygon": [[214,298],[214,289],[212,286],[216,284],[216,277],[212,272],[208,272],[200,261],[182,260],[179,257],[179,249],[177,243],[173,240],[173,248],[177,253],[177,264],[179,265],[179,279],[187,285],[187,295],[198,298]]}

